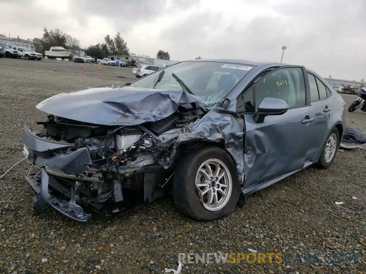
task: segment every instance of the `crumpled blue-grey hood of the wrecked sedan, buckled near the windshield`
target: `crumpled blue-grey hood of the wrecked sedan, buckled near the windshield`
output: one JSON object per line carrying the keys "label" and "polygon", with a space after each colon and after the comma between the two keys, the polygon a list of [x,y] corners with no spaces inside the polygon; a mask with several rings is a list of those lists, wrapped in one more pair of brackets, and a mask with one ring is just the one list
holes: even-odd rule
{"label": "crumpled blue-grey hood of the wrecked sedan, buckled near the windshield", "polygon": [[139,125],[168,117],[178,106],[201,98],[185,91],[103,85],[63,92],[37,104],[55,116],[99,125]]}

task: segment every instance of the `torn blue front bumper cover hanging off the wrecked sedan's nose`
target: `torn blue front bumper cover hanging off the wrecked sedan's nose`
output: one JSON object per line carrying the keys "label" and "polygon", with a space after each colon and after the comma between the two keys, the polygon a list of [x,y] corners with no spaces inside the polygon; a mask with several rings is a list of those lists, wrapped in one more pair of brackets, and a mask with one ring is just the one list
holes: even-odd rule
{"label": "torn blue front bumper cover hanging off the wrecked sedan's nose", "polygon": [[[58,212],[77,221],[87,221],[90,214],[84,213],[83,209],[76,202],[81,204],[93,203],[96,208],[100,208],[96,202],[90,199],[79,199],[76,194],[78,183],[75,188],[67,189],[61,183],[57,182],[57,175],[65,178],[78,179],[77,174],[82,174],[87,169],[87,165],[91,163],[90,155],[87,148],[78,149],[74,152],[65,152],[55,154],[53,151],[67,149],[72,144],[62,143],[40,138],[34,134],[27,123],[23,129],[23,153],[28,160],[35,166],[39,172],[37,174],[29,174],[26,176],[27,182],[34,191],[37,192],[34,197],[34,211],[37,215],[43,212],[46,203],[49,203]],[[77,181],[76,181],[77,182]],[[64,199],[56,198],[52,195],[52,191],[59,191],[65,198],[69,198],[67,202]]]}

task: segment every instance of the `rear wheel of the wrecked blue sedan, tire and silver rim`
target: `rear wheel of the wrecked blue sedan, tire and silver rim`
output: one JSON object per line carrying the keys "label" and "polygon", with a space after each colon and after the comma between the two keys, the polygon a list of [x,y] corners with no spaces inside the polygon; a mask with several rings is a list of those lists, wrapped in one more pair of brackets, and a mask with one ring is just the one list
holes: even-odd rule
{"label": "rear wheel of the wrecked blue sedan, tire and silver rim", "polygon": [[318,168],[326,169],[330,167],[336,158],[339,144],[339,132],[337,128],[333,128],[324,144],[319,161],[317,163]]}

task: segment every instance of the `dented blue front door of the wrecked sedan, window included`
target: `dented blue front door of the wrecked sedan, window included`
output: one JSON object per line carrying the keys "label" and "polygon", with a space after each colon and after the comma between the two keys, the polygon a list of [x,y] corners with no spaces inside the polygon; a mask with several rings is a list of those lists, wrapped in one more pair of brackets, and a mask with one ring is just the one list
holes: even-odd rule
{"label": "dented blue front door of the wrecked sedan, window included", "polygon": [[[238,98],[237,111],[242,106],[245,122],[244,189],[305,166],[313,119],[304,71],[302,67],[276,69],[246,90],[241,101]],[[255,123],[254,114],[266,97],[282,99],[290,109]]]}

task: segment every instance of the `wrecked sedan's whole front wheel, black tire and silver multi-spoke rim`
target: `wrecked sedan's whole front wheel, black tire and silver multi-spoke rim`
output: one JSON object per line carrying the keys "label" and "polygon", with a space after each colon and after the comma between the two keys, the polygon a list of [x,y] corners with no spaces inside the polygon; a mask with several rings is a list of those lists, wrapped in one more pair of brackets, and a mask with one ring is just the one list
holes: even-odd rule
{"label": "wrecked sedan's whole front wheel, black tire and silver multi-spoke rim", "polygon": [[173,197],[178,210],[198,221],[228,215],[238,202],[240,183],[229,154],[217,146],[188,153],[175,171]]}

